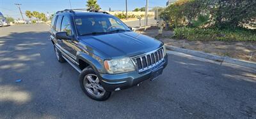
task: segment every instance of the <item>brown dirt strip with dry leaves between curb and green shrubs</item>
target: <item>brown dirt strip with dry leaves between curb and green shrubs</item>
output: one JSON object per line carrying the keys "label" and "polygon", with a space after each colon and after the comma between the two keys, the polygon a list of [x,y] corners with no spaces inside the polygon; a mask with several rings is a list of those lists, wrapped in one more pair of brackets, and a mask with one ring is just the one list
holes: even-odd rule
{"label": "brown dirt strip with dry leaves between curb and green shrubs", "polygon": [[164,31],[163,35],[158,35],[157,29],[140,31],[140,33],[159,39],[166,45],[256,62],[255,42],[188,41],[186,39],[172,39],[172,31]]}

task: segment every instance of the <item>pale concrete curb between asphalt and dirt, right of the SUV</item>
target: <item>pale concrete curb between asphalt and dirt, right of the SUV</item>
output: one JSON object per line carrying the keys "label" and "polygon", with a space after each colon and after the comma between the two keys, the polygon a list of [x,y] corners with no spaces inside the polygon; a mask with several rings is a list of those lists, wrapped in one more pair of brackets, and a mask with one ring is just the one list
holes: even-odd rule
{"label": "pale concrete curb between asphalt and dirt, right of the SUV", "polygon": [[245,67],[253,67],[256,68],[256,62],[250,62],[250,61],[246,61],[246,60],[239,60],[239,59],[232,59],[230,57],[222,57],[222,56],[218,56],[218,55],[212,55],[209,53],[204,53],[204,52],[198,52],[198,51],[194,51],[194,50],[188,50],[188,49],[184,49],[184,48],[177,48],[175,46],[168,46],[165,45],[166,49],[168,50],[172,50],[175,52],[181,52],[181,53],[186,53],[189,55],[194,55],[196,57],[201,57],[204,59],[209,59],[209,60],[214,60],[217,62],[226,62],[226,63],[230,63],[230,64],[236,64],[239,66],[245,66]]}

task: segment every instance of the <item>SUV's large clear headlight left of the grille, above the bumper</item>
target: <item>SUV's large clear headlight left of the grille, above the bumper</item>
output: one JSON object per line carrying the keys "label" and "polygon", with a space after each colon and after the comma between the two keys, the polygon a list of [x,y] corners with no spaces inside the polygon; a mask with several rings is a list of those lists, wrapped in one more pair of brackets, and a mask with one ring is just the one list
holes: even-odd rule
{"label": "SUV's large clear headlight left of the grille, above the bumper", "polygon": [[126,73],[135,70],[131,59],[128,57],[123,59],[105,60],[104,66],[109,74]]}

